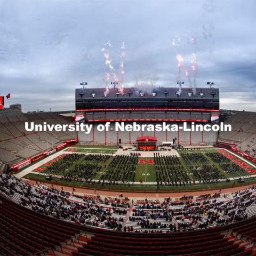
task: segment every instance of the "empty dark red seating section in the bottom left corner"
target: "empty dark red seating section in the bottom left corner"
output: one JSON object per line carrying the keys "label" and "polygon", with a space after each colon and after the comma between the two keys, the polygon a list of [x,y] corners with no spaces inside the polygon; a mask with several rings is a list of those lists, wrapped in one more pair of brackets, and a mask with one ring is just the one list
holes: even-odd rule
{"label": "empty dark red seating section in the bottom left corner", "polygon": [[0,194],[1,255],[33,255],[60,246],[78,234],[79,230],[68,222],[28,211]]}

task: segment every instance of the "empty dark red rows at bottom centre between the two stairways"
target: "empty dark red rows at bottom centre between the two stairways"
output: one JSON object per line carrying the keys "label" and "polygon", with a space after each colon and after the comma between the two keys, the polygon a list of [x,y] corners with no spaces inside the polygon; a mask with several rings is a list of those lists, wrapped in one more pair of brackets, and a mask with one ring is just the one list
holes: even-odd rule
{"label": "empty dark red rows at bottom centre between the two stairways", "polygon": [[[212,232],[213,233],[213,232]],[[234,255],[243,253],[244,249],[223,238],[219,232],[199,235],[161,237],[160,235],[142,235],[138,237],[114,234],[97,234],[88,241],[79,255]],[[74,253],[73,255],[78,255]]]}

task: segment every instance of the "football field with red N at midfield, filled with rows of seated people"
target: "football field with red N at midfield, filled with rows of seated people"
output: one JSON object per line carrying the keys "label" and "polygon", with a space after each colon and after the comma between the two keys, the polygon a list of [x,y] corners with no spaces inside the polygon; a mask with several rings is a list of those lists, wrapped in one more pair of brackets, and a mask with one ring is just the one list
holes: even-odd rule
{"label": "football field with red N at midfield, filled with rows of seated people", "polygon": [[[122,154],[118,154],[118,152]],[[165,154],[140,157],[111,146],[71,146],[45,158],[24,178],[53,181],[68,186],[134,185],[219,187],[227,179],[250,177],[250,173],[221,155],[216,149],[178,150],[179,156]],[[154,154],[154,153],[153,153]],[[47,159],[49,159],[47,161]],[[253,175],[254,177],[254,175]],[[218,182],[217,182],[218,180]],[[98,183],[97,183],[98,182]],[[98,185],[97,185],[98,184]]]}

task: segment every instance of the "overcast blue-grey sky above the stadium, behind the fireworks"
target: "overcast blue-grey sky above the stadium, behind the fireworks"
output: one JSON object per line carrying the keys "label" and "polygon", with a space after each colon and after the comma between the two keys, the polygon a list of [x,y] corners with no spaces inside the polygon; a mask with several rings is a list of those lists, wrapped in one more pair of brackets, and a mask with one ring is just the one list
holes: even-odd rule
{"label": "overcast blue-grey sky above the stadium, behind the fireworks", "polygon": [[198,87],[213,81],[221,108],[255,111],[255,13],[254,0],[0,0],[0,94],[23,111],[74,110],[79,83],[104,86],[110,41],[117,73],[125,42],[124,86],[175,86],[176,54],[193,81],[195,53]]}

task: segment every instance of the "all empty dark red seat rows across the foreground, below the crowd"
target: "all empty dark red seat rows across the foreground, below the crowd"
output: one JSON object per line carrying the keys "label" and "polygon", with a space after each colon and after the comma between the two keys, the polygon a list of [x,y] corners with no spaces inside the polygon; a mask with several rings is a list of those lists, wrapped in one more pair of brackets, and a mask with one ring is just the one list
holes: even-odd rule
{"label": "all empty dark red seat rows across the foreground, below the crowd", "polygon": [[81,231],[90,238],[78,244],[78,253],[70,250],[71,255],[250,255],[252,249],[245,252],[223,231],[233,229],[255,236],[255,218],[229,227],[184,233],[120,233],[47,217],[1,195],[0,202],[1,255],[40,255],[44,250],[48,255],[60,255],[58,246],[68,239],[75,241]]}

